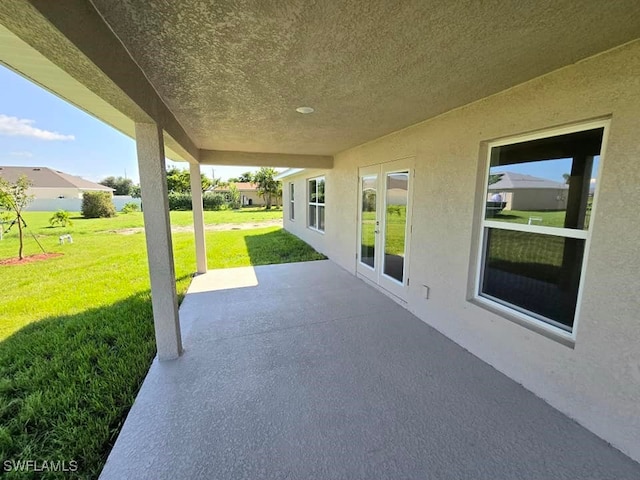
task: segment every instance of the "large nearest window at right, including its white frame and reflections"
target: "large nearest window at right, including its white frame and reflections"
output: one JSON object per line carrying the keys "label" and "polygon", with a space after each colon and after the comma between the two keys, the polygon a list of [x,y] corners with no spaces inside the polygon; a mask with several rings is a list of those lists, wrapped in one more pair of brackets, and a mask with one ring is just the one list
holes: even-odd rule
{"label": "large nearest window at right, including its white frame and reflections", "polygon": [[477,298],[573,332],[603,135],[491,145]]}

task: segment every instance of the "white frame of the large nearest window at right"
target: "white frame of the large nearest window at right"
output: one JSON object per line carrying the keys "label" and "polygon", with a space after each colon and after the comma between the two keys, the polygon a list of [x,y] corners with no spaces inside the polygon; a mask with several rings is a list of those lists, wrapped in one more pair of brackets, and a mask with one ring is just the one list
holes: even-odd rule
{"label": "white frame of the large nearest window at right", "polygon": [[[576,341],[576,333],[578,331],[578,324],[580,320],[580,311],[582,305],[582,295],[584,293],[584,280],[587,271],[587,265],[589,260],[589,249],[591,245],[591,232],[593,231],[593,219],[595,218],[595,213],[597,211],[597,203],[600,192],[600,181],[596,182],[596,188],[594,191],[593,203],[591,208],[591,220],[589,223],[589,227],[586,230],[577,230],[572,228],[560,228],[560,227],[544,227],[540,225],[526,225],[526,224],[514,224],[507,222],[500,222],[495,220],[487,220],[485,216],[486,208],[484,208],[484,204],[486,203],[486,199],[489,194],[489,185],[487,183],[487,178],[489,178],[489,172],[491,167],[491,151],[495,147],[500,147],[504,145],[512,145],[515,143],[527,142],[531,140],[539,140],[543,138],[556,137],[560,135],[565,135],[569,133],[577,133],[585,130],[592,130],[597,128],[603,128],[602,134],[602,144],[600,147],[600,161],[598,164],[598,171],[596,173],[596,178],[601,178],[602,166],[605,161],[605,154],[607,149],[607,139],[609,136],[609,125],[610,120],[597,120],[575,124],[572,126],[561,127],[561,128],[552,128],[544,131],[531,133],[527,135],[519,135],[513,137],[507,137],[501,140],[496,140],[493,142],[487,143],[487,157],[484,159],[485,161],[485,169],[482,177],[482,183],[484,185],[483,193],[482,193],[482,202],[483,207],[479,208],[478,211],[480,213],[480,228],[478,229],[477,236],[477,263],[475,265],[475,283],[473,285],[473,295],[471,297],[471,301],[476,305],[479,305],[483,308],[486,308],[508,320],[512,320],[515,323],[523,325],[530,330],[541,333],[544,336],[552,338],[554,340],[558,340],[561,343],[573,347]],[[560,327],[554,326],[542,319],[542,316],[536,316],[533,312],[528,312],[524,308],[518,307],[516,305],[510,305],[506,301],[495,299],[492,300],[490,296],[486,294],[481,294],[482,288],[482,275],[486,260],[486,238],[487,238],[487,230],[489,228],[494,229],[503,229],[503,230],[515,230],[521,232],[528,233],[536,233],[536,234],[547,234],[560,236],[565,238],[579,238],[585,240],[584,253],[582,257],[582,267],[580,270],[580,281],[578,283],[578,295],[576,298],[576,309],[574,314],[573,327],[571,331],[567,331]]]}

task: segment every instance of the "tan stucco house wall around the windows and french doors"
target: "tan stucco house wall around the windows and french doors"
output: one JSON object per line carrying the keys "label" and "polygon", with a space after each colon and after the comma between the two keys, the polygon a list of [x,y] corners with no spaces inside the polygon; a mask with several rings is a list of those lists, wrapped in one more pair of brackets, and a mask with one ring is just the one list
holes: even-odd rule
{"label": "tan stucco house wall around the windows and french doors", "polygon": [[[484,142],[611,118],[572,349],[469,303]],[[408,308],[640,460],[640,41],[342,152],[326,176],[326,232],[306,228],[305,171],[285,227],[355,271],[358,167],[415,157]],[[456,199],[452,202],[451,199]],[[288,198],[285,197],[285,205]],[[422,285],[431,289],[422,297]]]}

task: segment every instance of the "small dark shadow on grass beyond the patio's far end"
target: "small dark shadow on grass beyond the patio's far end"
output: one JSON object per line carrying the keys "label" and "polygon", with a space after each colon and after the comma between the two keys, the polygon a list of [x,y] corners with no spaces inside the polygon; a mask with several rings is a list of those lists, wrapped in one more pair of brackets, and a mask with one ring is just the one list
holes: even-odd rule
{"label": "small dark shadow on grass beyond the patio's far end", "polygon": [[284,229],[244,237],[251,265],[309,262],[327,257]]}

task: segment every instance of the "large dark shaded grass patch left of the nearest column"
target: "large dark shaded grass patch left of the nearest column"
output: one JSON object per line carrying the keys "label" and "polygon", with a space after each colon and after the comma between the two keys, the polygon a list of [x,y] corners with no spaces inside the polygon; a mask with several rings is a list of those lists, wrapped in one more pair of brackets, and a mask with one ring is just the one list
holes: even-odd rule
{"label": "large dark shaded grass patch left of the nearest column", "polygon": [[76,460],[76,472],[46,478],[97,478],[155,352],[149,292],[7,337],[0,342],[0,457]]}

